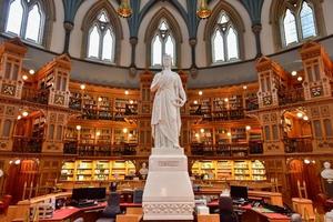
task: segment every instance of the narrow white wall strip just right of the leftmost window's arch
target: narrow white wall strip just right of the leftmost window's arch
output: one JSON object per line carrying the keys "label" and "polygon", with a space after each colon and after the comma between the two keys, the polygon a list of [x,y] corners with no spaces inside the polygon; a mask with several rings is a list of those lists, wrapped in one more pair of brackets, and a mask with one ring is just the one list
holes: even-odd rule
{"label": "narrow white wall strip just right of the leftmost window's arch", "polygon": [[63,6],[62,1],[54,1],[56,6],[56,21],[53,22],[52,28],[52,38],[50,43],[50,50],[57,53],[61,53],[63,51],[64,44],[64,28],[63,28]]}

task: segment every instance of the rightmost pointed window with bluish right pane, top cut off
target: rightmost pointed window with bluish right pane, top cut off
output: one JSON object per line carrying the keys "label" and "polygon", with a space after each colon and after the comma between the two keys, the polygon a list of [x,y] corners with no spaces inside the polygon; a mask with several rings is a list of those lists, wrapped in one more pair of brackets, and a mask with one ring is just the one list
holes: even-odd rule
{"label": "rightmost pointed window with bluish right pane, top cut off", "polygon": [[314,8],[311,1],[287,3],[282,18],[284,47],[302,42],[317,36]]}

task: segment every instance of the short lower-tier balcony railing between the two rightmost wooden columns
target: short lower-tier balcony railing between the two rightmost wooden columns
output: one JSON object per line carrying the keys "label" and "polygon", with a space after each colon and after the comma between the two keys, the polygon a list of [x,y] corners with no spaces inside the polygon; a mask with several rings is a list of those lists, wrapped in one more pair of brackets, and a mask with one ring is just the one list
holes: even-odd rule
{"label": "short lower-tier balcony railing between the two rightmost wooden columns", "polygon": [[312,152],[312,139],[311,138],[285,138],[283,140],[284,151],[286,153],[302,153]]}

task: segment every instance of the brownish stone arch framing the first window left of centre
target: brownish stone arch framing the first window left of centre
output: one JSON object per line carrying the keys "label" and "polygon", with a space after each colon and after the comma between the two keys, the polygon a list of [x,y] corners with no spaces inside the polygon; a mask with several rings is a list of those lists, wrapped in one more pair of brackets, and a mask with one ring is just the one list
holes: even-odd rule
{"label": "brownish stone arch framing the first window left of centre", "polygon": [[87,58],[89,29],[91,28],[91,24],[93,23],[97,16],[102,9],[105,10],[105,12],[108,13],[112,28],[114,30],[114,37],[115,37],[114,63],[119,64],[120,53],[121,53],[121,40],[123,39],[122,26],[117,11],[108,0],[100,0],[97,3],[94,3],[88,10],[88,12],[85,13],[82,20],[81,30],[83,32],[83,39],[81,46],[81,58]]}

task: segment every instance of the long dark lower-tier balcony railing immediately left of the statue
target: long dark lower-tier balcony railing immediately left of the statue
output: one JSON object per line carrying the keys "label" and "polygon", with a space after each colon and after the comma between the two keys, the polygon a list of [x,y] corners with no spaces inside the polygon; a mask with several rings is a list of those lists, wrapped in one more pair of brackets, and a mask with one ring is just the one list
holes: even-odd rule
{"label": "long dark lower-tier balcony railing immediately left of the statue", "polygon": [[63,154],[78,154],[80,157],[135,155],[137,148],[137,143],[78,144],[74,141],[67,141],[63,147]]}

